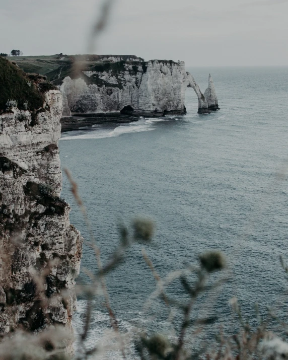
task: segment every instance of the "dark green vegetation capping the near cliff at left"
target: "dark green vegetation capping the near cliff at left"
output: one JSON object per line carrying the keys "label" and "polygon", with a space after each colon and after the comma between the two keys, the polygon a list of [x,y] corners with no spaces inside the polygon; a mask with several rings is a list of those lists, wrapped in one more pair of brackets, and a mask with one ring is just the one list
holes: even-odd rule
{"label": "dark green vegetation capping the near cliff at left", "polygon": [[21,110],[39,109],[44,102],[43,95],[27,75],[0,56],[0,111],[6,110],[7,101],[11,99],[17,99]]}

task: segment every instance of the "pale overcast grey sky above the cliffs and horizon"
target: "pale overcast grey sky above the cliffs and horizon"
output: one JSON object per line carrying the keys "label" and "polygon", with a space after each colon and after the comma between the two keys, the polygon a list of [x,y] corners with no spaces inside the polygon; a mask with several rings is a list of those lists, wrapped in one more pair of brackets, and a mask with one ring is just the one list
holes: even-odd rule
{"label": "pale overcast grey sky above the cliffs and horizon", "polygon": [[[0,52],[88,53],[102,0],[0,0]],[[288,65],[288,0],[114,0],[96,54]]]}

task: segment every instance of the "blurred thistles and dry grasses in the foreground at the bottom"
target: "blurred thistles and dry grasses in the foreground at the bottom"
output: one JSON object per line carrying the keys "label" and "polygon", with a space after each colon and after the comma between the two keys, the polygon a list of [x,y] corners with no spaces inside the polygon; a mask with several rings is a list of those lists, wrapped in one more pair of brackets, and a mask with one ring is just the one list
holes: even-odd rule
{"label": "blurred thistles and dry grasses in the foreground at the bottom", "polygon": [[[93,231],[88,221],[87,213],[78,194],[77,184],[71,178],[69,172],[66,172],[78,205],[80,206],[84,221],[90,233],[89,245],[91,251],[95,252],[98,268],[95,273],[86,271],[89,277],[89,283],[79,283],[77,286],[78,295],[81,294],[87,301],[87,307],[83,318],[83,329],[77,338],[77,352],[75,355],[67,353],[65,346],[73,339],[71,333],[60,326],[50,326],[42,328],[38,332],[24,332],[17,330],[9,336],[2,339],[0,343],[0,358],[4,360],[21,359],[109,359],[111,351],[114,351],[118,358],[135,358],[140,360],[248,360],[248,359],[283,359],[288,358],[288,342],[282,340],[279,335],[269,331],[269,319],[265,321],[260,317],[259,310],[256,307],[255,319],[257,326],[252,329],[241,314],[241,309],[237,299],[231,299],[231,306],[238,316],[240,331],[233,336],[226,336],[219,327],[215,333],[215,341],[210,342],[203,338],[204,346],[195,348],[191,344],[193,337],[201,333],[205,328],[217,323],[216,316],[207,316],[196,318],[193,309],[197,298],[203,294],[206,296],[218,287],[221,287],[228,280],[226,267],[227,259],[219,251],[208,251],[199,255],[198,263],[187,264],[185,268],[179,269],[167,274],[161,278],[155,269],[152,261],[149,259],[145,247],[153,242],[155,232],[154,222],[150,219],[136,218],[130,226],[121,224],[119,226],[119,245],[111,255],[110,261],[102,265],[100,249],[97,247],[93,238]],[[175,331],[171,334],[162,334],[148,329],[139,329],[134,327],[132,334],[122,332],[119,327],[117,314],[114,313],[109,299],[109,289],[107,289],[105,277],[107,274],[117,271],[117,267],[123,262],[129,260],[125,257],[125,251],[134,243],[141,244],[143,261],[151,269],[151,273],[156,281],[156,289],[148,302],[161,301],[168,309],[169,318],[173,317],[175,310],[182,315],[173,320]],[[283,270],[288,273],[288,267],[281,260]],[[48,264],[47,267],[50,265]],[[85,269],[84,269],[85,271]],[[217,280],[213,274],[218,273]],[[46,272],[35,274],[35,284],[39,292],[42,292],[43,306],[53,302],[52,298],[45,296]],[[212,279],[212,280],[211,280]],[[185,301],[177,297],[168,295],[169,285],[173,281],[178,281],[184,290]],[[65,302],[67,294],[65,292],[56,294],[62,297]],[[95,343],[93,347],[87,347],[86,340],[92,326],[92,311],[96,303],[104,303],[106,311],[110,317],[110,330],[105,333],[108,345],[102,342]],[[1,304],[0,304],[1,305]],[[140,309],[139,309],[140,310]],[[270,313],[270,318],[276,319],[275,315]],[[169,321],[170,321],[169,320]],[[277,320],[277,319],[276,319]],[[286,330],[286,324],[280,320],[279,324]],[[129,336],[129,337],[128,337]],[[131,338],[132,336],[132,338]],[[205,335],[203,335],[205,336]],[[130,353],[129,343],[133,342],[135,352]]]}

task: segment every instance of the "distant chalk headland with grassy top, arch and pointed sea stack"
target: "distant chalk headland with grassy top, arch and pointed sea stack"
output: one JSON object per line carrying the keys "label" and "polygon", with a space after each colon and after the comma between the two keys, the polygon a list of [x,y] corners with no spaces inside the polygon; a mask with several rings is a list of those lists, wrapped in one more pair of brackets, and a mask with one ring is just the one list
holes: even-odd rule
{"label": "distant chalk headland with grassy top, arch and pointed sea stack", "polygon": [[17,65],[24,71],[35,68],[58,86],[63,98],[63,118],[95,115],[96,119],[102,113],[108,119],[109,114],[120,112],[135,116],[184,114],[187,86],[196,92],[198,113],[218,109],[212,80],[202,94],[193,77],[186,73],[183,61],[90,54],[41,59],[27,56],[18,59]]}

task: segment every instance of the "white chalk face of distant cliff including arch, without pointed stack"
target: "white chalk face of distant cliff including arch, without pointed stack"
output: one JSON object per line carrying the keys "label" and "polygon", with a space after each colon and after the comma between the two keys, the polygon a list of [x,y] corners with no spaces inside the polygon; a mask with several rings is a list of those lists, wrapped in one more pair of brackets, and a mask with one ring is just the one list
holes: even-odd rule
{"label": "white chalk face of distant cliff including arch, without pointed stack", "polygon": [[187,86],[205,113],[207,102],[193,77],[186,73],[183,61],[124,62],[122,68],[83,71],[84,77],[64,78],[60,91],[64,116],[133,111],[139,115],[183,114]]}

